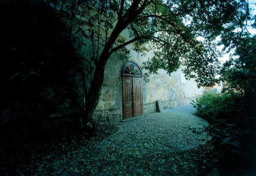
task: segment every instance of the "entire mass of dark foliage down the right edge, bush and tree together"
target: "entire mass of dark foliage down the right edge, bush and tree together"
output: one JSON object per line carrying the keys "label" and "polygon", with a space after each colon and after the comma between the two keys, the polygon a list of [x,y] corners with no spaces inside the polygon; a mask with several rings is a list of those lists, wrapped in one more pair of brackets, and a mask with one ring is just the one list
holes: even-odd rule
{"label": "entire mass of dark foliage down the right edge, bush and tree together", "polygon": [[253,175],[256,170],[256,38],[248,31],[255,28],[254,19],[248,14],[236,30],[221,35],[223,51],[234,51],[220,70],[220,80],[227,83],[222,95],[208,94],[194,102],[198,116],[210,122],[213,156],[225,174]]}

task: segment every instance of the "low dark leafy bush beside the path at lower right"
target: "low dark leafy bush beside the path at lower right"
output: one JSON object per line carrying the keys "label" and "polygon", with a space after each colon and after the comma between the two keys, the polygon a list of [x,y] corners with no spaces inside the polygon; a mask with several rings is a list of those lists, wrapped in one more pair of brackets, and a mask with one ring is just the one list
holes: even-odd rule
{"label": "low dark leafy bush beside the path at lower right", "polygon": [[238,93],[206,93],[193,104],[197,115],[209,122],[213,157],[220,173],[252,174],[255,171],[255,116]]}

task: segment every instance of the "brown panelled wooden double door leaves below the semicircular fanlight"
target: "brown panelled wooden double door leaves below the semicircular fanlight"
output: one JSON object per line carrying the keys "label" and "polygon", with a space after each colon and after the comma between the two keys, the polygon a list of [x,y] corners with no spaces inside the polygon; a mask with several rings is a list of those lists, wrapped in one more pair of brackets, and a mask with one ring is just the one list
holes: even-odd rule
{"label": "brown panelled wooden double door leaves below the semicircular fanlight", "polygon": [[142,77],[123,76],[123,118],[143,115]]}

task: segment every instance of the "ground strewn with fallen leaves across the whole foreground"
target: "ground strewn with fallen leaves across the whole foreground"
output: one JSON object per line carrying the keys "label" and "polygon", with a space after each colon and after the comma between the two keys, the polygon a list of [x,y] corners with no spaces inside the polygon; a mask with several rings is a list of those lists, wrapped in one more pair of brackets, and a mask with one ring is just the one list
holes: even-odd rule
{"label": "ground strewn with fallen leaves across the whole foreground", "polygon": [[[10,152],[1,154],[0,171],[9,175],[205,175],[216,172],[212,168],[211,144],[198,143],[191,149],[173,147],[182,140],[189,145],[189,135],[193,136],[193,141],[195,136],[204,132],[204,129],[191,126],[193,123],[188,123],[188,118],[183,120],[189,126],[184,125],[180,129],[178,122],[182,116],[176,118],[176,123],[164,125],[154,122],[153,117],[150,120],[144,116],[118,127],[101,125],[91,136],[76,133],[13,147]],[[145,121],[145,126],[138,127],[142,121]],[[148,125],[152,125],[151,128]],[[175,126],[173,130],[180,130],[173,134],[166,129],[168,125],[169,129]],[[122,134],[125,126],[134,129],[131,133],[126,131]],[[155,131],[150,132],[149,129]],[[166,137],[166,134],[170,135]],[[170,142],[170,139],[174,141]]]}

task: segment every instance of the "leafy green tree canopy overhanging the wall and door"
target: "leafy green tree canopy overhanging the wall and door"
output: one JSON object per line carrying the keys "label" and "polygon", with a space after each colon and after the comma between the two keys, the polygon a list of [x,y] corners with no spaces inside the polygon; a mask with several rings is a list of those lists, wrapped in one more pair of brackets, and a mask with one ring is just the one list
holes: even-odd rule
{"label": "leafy green tree canopy overhanging the wall and door", "polygon": [[[145,63],[150,74],[156,74],[159,68],[173,72],[183,65],[186,76],[196,78],[198,86],[216,81],[220,56],[216,37],[221,36],[221,44],[229,47],[232,31],[250,18],[246,1],[79,2],[68,2],[68,8],[73,9],[67,12],[74,12],[81,19],[81,39],[85,37],[92,43],[95,63],[106,63],[106,58],[120,49],[129,54],[125,46],[136,42],[134,50],[154,52]],[[84,29],[83,24],[88,28]],[[128,41],[117,39],[124,30],[129,31]],[[102,31],[104,35],[100,34]],[[144,47],[145,44],[149,46]],[[108,53],[100,58],[104,52]]]}

